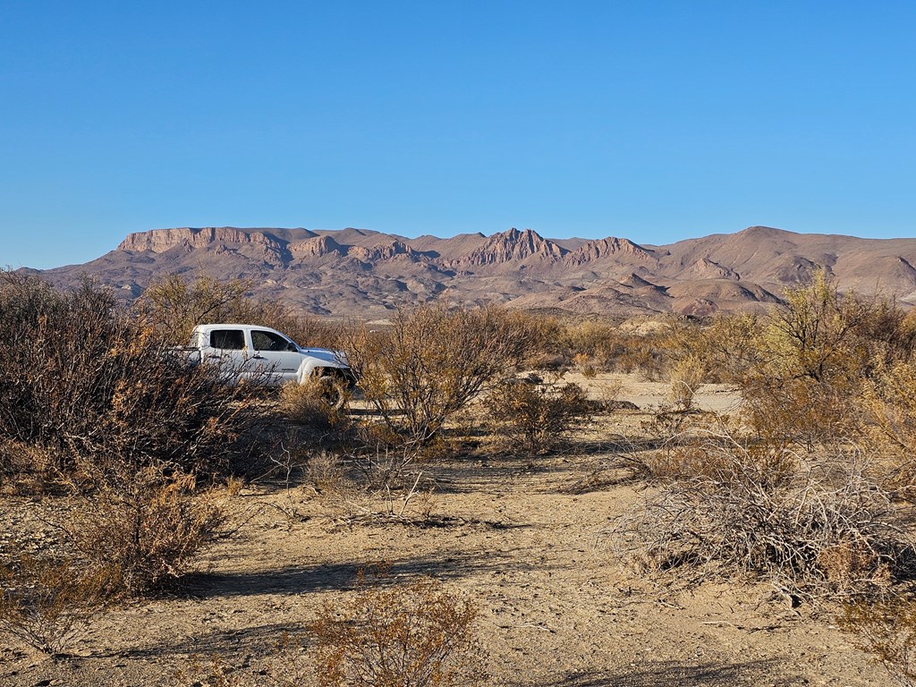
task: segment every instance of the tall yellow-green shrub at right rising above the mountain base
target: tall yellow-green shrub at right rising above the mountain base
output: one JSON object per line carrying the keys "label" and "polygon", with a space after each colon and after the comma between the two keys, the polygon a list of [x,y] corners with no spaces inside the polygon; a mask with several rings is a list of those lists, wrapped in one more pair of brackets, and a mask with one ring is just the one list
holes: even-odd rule
{"label": "tall yellow-green shrub at right rising above the mountain base", "polygon": [[750,427],[808,449],[859,441],[864,389],[909,359],[911,320],[887,300],[839,294],[823,271],[787,289],[785,300],[762,322],[753,360],[737,377]]}

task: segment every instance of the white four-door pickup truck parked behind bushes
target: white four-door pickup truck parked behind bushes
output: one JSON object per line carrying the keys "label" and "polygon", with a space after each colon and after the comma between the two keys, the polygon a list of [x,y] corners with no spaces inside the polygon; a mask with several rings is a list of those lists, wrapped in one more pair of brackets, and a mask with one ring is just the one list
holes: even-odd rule
{"label": "white four-door pickup truck parked behind bushes", "polygon": [[269,387],[320,379],[329,402],[344,403],[356,376],[343,351],[302,348],[285,334],[255,324],[199,324],[183,349],[192,364],[220,365],[227,380]]}

